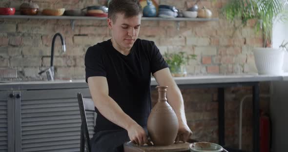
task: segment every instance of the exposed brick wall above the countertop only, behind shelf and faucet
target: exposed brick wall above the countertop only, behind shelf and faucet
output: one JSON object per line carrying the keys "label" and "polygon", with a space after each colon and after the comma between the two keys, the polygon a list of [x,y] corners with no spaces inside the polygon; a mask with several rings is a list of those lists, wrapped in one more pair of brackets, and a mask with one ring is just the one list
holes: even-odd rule
{"label": "exposed brick wall above the countertop only, behind shelf and faucet", "polygon": [[[156,0],[185,10],[194,0]],[[2,0],[0,6],[16,7],[23,0]],[[35,0],[41,7],[83,8],[104,4],[105,0]],[[161,52],[185,51],[196,54],[187,68],[190,75],[255,73],[251,48],[262,46],[261,35],[253,33],[254,21],[235,28],[240,21],[228,22],[219,16],[226,0],[201,0],[199,6],[211,9],[219,21],[142,21],[140,38],[154,40]],[[86,49],[110,38],[105,20],[0,19],[0,79],[41,80],[37,73],[49,67],[51,41],[55,33],[65,38],[67,52],[60,54],[60,40],[55,46],[55,76],[60,79],[84,78],[83,56]]]}

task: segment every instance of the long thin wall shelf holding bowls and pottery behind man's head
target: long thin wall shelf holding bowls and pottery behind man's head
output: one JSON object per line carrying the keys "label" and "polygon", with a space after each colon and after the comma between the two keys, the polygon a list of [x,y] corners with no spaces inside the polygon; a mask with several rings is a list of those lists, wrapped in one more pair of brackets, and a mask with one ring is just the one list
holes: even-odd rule
{"label": "long thin wall shelf holding bowls and pottery behind man's head", "polygon": [[[29,16],[29,15],[0,15],[0,19],[95,19],[95,20],[104,20],[107,18],[103,17],[86,17],[86,16]],[[217,21],[218,18],[142,18],[142,20],[170,20],[170,21]]]}

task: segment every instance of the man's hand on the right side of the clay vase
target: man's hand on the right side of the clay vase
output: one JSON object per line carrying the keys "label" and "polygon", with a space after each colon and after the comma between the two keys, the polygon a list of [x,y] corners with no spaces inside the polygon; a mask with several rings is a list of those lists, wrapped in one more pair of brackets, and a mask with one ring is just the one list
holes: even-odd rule
{"label": "man's hand on the right side of the clay vase", "polygon": [[192,131],[189,129],[186,123],[179,124],[178,133],[175,139],[175,143],[179,141],[186,142],[192,135]]}

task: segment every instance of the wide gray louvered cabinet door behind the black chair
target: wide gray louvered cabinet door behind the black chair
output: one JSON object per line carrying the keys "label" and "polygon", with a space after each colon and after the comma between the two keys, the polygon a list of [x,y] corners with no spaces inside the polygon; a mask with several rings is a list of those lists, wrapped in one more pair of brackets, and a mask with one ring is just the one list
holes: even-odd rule
{"label": "wide gray louvered cabinet door behind the black chair", "polygon": [[[15,121],[16,152],[79,152],[81,117],[77,93],[88,88],[21,91]],[[95,114],[87,113],[90,137]]]}

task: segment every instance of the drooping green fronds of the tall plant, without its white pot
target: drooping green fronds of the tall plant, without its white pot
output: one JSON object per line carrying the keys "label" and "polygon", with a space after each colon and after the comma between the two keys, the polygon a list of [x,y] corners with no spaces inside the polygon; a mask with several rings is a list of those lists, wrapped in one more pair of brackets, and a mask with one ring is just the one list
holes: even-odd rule
{"label": "drooping green fronds of the tall plant, without its white pot", "polygon": [[287,20],[287,4],[288,0],[228,0],[222,8],[222,14],[230,21],[241,19],[244,26],[249,19],[256,19],[255,29],[262,30],[266,47],[271,42],[273,21]]}

